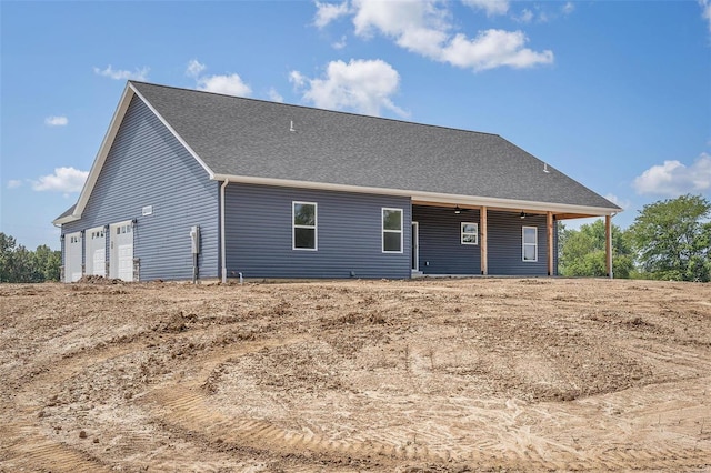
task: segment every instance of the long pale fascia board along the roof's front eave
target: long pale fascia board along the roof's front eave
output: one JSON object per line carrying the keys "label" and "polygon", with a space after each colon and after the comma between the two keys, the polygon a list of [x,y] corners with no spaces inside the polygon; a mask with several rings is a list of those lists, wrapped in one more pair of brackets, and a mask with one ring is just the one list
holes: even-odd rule
{"label": "long pale fascia board along the roof's front eave", "polygon": [[407,197],[412,201],[442,203],[442,204],[459,204],[471,207],[488,207],[497,209],[505,209],[513,211],[529,211],[529,212],[554,212],[554,213],[579,213],[589,214],[590,217],[600,215],[613,215],[622,211],[621,208],[602,208],[602,207],[587,207],[587,205],[572,205],[564,203],[550,203],[550,202],[535,202],[523,201],[514,199],[497,199],[485,198],[477,195],[459,195],[459,194],[444,194],[437,192],[421,192],[409,191],[401,189],[384,189],[384,188],[370,188],[361,185],[347,185],[347,184],[329,184],[323,182],[307,182],[294,181],[288,179],[272,179],[272,178],[254,178],[248,175],[230,175],[230,174],[214,174],[212,177],[216,181],[224,181],[229,179],[230,183],[243,183],[243,184],[259,184],[259,185],[274,185],[284,188],[300,188],[300,189],[316,189],[322,191],[336,191],[336,192],[354,192],[354,193],[369,193],[380,195],[398,195]]}

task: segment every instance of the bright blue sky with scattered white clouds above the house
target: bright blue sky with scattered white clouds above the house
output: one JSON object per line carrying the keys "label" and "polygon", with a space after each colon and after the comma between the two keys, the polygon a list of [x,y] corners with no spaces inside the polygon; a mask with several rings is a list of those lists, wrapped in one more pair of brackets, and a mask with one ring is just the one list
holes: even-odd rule
{"label": "bright blue sky with scattered white clouds above the house", "polygon": [[711,0],[1,1],[0,21],[0,231],[30,249],[59,249],[128,79],[497,133],[623,228],[711,198]]}

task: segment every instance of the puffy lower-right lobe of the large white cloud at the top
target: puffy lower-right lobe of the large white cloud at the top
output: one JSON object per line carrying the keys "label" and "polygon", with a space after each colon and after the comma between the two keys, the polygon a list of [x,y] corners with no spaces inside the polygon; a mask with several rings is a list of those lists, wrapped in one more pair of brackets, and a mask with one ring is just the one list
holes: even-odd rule
{"label": "puffy lower-right lobe of the large white cloud at the top", "polygon": [[551,51],[535,52],[523,48],[527,41],[521,31],[487,30],[473,40],[457,34],[442,50],[442,57],[454,66],[477,71],[501,66],[522,69],[553,62]]}

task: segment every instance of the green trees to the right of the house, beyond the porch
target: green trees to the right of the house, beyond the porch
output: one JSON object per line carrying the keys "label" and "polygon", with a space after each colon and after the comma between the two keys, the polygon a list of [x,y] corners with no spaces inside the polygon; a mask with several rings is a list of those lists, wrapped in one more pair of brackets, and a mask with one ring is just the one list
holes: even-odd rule
{"label": "green trees to the right of the house, beyond the porch", "polygon": [[[627,230],[612,224],[615,278],[711,281],[711,202],[681,195],[647,204]],[[559,270],[565,276],[604,276],[604,223],[559,229]]]}

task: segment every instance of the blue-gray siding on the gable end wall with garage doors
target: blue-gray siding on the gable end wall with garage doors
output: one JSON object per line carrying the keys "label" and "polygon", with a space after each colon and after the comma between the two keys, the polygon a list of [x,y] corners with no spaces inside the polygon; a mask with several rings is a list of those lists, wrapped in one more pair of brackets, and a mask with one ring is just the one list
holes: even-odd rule
{"label": "blue-gray siding on the gable end wall with garage doors", "polygon": [[[142,208],[152,205],[151,215]],[[217,278],[219,183],[134,97],[82,218],[62,233],[136,219],[133,258],[140,280],[192,278],[190,228],[200,225],[200,276]],[[107,260],[110,235],[107,234]]]}

